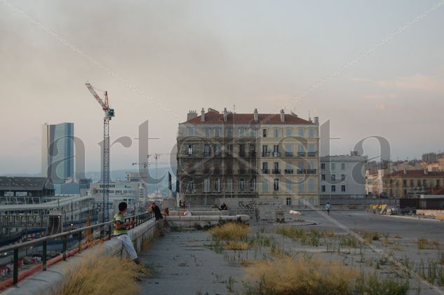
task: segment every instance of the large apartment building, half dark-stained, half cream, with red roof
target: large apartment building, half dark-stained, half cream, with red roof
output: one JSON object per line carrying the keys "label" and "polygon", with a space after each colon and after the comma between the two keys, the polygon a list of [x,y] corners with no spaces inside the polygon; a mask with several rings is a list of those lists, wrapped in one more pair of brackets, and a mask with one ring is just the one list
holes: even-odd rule
{"label": "large apartment building, half dark-stained, half cream, with red roof", "polygon": [[318,118],[190,111],[177,135],[180,195],[193,205],[217,198],[318,205],[318,147]]}

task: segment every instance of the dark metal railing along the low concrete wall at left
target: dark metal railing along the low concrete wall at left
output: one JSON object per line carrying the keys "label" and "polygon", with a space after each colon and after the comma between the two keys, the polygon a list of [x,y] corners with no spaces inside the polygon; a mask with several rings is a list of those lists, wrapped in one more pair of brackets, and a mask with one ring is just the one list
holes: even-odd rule
{"label": "dark metal railing along the low concrete wall at left", "polygon": [[[128,216],[128,217],[124,217],[125,222],[126,221],[134,221],[133,224],[130,226],[130,228],[134,228],[135,226],[138,226],[140,224],[143,224],[144,222],[152,219],[154,217],[154,212],[144,212],[144,213],[140,213],[140,214],[135,214],[132,216]],[[114,221],[107,221],[107,222],[102,222],[100,224],[94,224],[92,226],[86,226],[83,228],[77,228],[74,229],[72,231],[65,231],[63,233],[57,233],[55,235],[48,235],[46,237],[43,238],[38,238],[35,240],[30,240],[27,242],[21,242],[15,245],[10,245],[10,246],[5,246],[5,247],[0,247],[0,253],[5,253],[5,252],[11,252],[13,251],[13,282],[12,284],[15,285],[18,283],[18,261],[19,261],[19,250],[24,248],[27,249],[27,247],[29,246],[34,246],[36,244],[42,244],[42,257],[41,257],[41,269],[42,270],[46,270],[46,263],[47,263],[47,258],[46,258],[46,252],[47,252],[47,245],[49,241],[61,238],[62,239],[62,260],[66,261],[67,259],[67,251],[68,251],[68,237],[72,236],[73,238],[76,236],[77,240],[78,240],[78,252],[81,252],[82,249],[86,249],[88,247],[88,245],[82,245],[82,241],[83,240],[87,240],[90,242],[93,242],[95,240],[94,237],[94,230],[95,228],[99,228],[99,235],[97,238],[99,238],[100,240],[104,239],[104,240],[109,240],[112,237],[112,229],[113,226],[112,224],[114,223]],[[105,228],[107,227],[107,233],[105,233]],[[87,235],[84,235],[85,239],[83,239],[83,233],[85,233],[86,231],[88,231]],[[86,247],[85,247],[86,246]],[[75,248],[74,248],[75,249]],[[1,282],[0,282],[1,285]],[[5,287],[9,287],[9,286],[5,286]]]}

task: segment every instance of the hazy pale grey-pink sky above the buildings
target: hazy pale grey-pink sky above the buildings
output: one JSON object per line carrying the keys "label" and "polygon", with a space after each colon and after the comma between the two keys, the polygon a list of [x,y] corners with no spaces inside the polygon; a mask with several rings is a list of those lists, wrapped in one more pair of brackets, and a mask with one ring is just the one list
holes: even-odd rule
{"label": "hazy pale grey-pink sky above the buildings", "polygon": [[[41,125],[62,122],[85,144],[86,170],[100,170],[103,114],[86,81],[109,93],[112,141],[149,121],[150,153],[173,151],[177,124],[202,107],[330,120],[331,154],[372,135],[394,160],[440,151],[444,5],[344,68],[438,3],[1,0],[0,174],[39,172]],[[365,153],[379,154],[374,139]],[[137,162],[137,140],[113,146],[111,162]]]}

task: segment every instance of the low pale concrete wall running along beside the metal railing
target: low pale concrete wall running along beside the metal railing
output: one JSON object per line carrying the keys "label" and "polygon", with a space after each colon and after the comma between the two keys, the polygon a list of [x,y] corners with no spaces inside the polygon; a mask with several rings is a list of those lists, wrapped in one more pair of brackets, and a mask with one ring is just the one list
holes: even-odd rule
{"label": "low pale concrete wall running along beside the metal railing", "polygon": [[[131,240],[137,252],[142,249],[142,242],[146,239],[152,238],[154,234],[154,219],[137,226],[129,231]],[[117,238],[112,238],[104,242],[102,245],[91,247],[67,258],[67,261],[60,261],[48,268],[46,271],[39,271],[35,275],[25,278],[18,283],[16,287],[6,289],[1,295],[56,295],[62,290],[63,283],[69,280],[69,275],[72,271],[82,263],[83,256],[93,254],[95,256],[114,256],[120,255],[123,258],[127,256],[123,249],[122,242]]]}

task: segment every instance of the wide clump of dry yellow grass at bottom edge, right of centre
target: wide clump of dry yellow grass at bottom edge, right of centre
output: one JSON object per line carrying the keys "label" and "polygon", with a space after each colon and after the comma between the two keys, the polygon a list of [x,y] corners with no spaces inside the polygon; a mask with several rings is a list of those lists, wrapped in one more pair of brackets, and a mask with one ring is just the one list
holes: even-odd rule
{"label": "wide clump of dry yellow grass at bottom edge, right of centre", "polygon": [[247,268],[247,294],[349,294],[358,273],[342,263],[293,259],[259,261]]}

